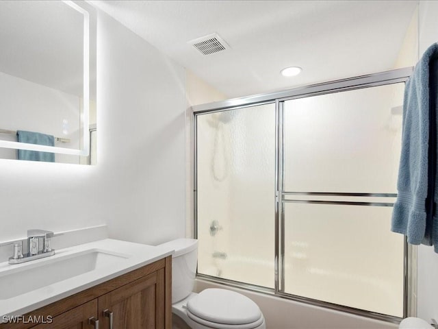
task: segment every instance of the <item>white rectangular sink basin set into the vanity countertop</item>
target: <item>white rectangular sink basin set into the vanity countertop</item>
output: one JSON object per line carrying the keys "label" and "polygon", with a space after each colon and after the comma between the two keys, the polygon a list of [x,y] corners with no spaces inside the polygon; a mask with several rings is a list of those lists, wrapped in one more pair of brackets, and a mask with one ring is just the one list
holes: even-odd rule
{"label": "white rectangular sink basin set into the vanity countertop", "polygon": [[10,269],[0,272],[0,300],[7,300],[94,269],[114,265],[129,256],[90,249],[52,257],[33,260],[24,265],[11,265]]}

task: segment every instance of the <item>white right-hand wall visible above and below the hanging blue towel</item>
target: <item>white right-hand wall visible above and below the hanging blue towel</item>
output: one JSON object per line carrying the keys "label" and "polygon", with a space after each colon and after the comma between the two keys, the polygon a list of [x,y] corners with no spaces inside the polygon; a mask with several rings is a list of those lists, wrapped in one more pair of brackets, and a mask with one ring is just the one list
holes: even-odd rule
{"label": "white right-hand wall visible above and below the hanging blue towel", "polygon": [[[438,1],[420,1],[420,56],[438,41]],[[438,254],[432,247],[418,247],[417,315],[438,319]]]}

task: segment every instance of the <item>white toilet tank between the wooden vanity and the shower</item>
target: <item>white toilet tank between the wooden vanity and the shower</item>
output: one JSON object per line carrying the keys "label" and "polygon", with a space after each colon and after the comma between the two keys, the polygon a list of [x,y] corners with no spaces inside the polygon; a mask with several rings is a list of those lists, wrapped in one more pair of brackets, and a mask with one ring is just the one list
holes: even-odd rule
{"label": "white toilet tank between the wooden vanity and the shower", "polygon": [[175,250],[172,256],[172,304],[175,304],[193,291],[198,262],[198,240],[177,239],[157,247]]}

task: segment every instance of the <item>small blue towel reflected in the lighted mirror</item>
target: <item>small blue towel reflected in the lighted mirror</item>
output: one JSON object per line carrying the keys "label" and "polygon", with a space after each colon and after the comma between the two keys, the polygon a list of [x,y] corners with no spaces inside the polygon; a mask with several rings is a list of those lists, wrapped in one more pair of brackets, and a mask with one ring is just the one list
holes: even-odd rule
{"label": "small blue towel reflected in the lighted mirror", "polygon": [[[18,130],[16,132],[16,136],[18,142],[20,143],[55,146],[55,137],[41,134],[40,132],[26,132],[25,130]],[[26,149],[18,149],[18,160],[55,162],[55,154],[51,152],[27,151]]]}

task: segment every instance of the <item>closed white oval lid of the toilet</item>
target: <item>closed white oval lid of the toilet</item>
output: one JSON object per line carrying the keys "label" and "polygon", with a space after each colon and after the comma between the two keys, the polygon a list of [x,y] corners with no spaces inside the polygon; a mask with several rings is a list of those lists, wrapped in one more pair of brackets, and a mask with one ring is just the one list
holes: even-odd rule
{"label": "closed white oval lid of the toilet", "polygon": [[252,324],[261,318],[259,306],[248,297],[225,289],[205,289],[187,303],[192,315],[219,324]]}

